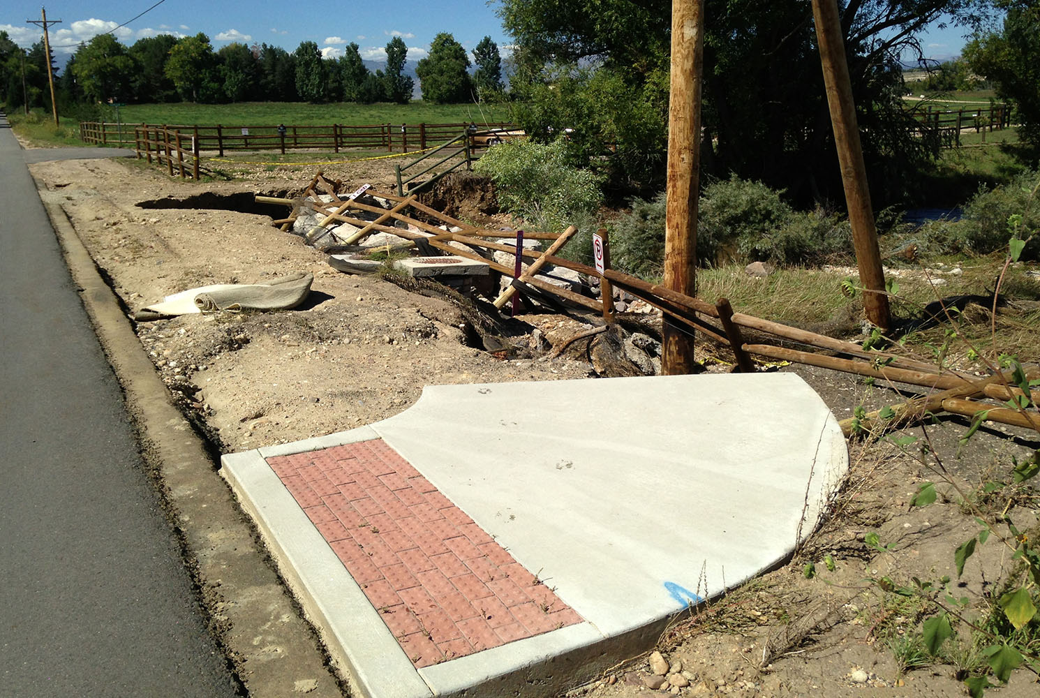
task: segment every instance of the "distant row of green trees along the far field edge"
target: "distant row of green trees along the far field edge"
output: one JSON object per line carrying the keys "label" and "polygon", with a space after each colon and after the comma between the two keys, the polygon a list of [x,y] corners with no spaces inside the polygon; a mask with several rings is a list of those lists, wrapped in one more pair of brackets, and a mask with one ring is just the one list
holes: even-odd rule
{"label": "distant row of green trees along the far field edge", "polygon": [[[131,46],[111,34],[81,44],[56,84],[59,107],[97,102],[166,103],[396,102],[412,99],[405,73],[408,47],[399,36],[386,45],[385,68],[369,70],[360,47],[326,58],[314,42],[288,52],[267,44],[233,43],[214,50],[204,33],[178,38],[159,34]],[[50,106],[48,56],[42,42],[19,48],[0,32],[0,101],[8,108]],[[418,62],[422,98],[436,103],[488,99],[502,91],[498,46],[485,36],[469,55],[449,33],[440,33]]]}

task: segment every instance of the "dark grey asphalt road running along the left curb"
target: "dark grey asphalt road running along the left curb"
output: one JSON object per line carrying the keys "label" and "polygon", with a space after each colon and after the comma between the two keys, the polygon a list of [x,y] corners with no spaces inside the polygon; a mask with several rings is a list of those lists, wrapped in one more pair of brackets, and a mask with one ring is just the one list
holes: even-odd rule
{"label": "dark grey asphalt road running along the left curb", "polygon": [[0,694],[234,696],[24,154],[0,114]]}

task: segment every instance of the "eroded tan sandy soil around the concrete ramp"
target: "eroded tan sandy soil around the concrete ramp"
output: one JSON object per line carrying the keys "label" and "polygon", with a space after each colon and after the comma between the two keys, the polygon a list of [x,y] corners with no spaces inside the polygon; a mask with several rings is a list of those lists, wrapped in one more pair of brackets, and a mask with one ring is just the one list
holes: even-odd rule
{"label": "eroded tan sandy soil around the concrete ramp", "polygon": [[[134,163],[90,160],[33,165],[45,196],[61,204],[128,312],[163,295],[212,283],[250,283],[292,272],[314,275],[311,300],[277,313],[187,315],[141,322],[137,334],[163,380],[200,430],[222,451],[293,441],[372,422],[414,403],[423,385],[539,381],[595,374],[581,352],[539,360],[502,360],[466,345],[465,318],[450,302],[424,298],[372,277],[332,269],[324,256],[263,215],[228,210],[145,209],[138,202],[187,198],[206,191],[298,191],[313,172],[257,169],[248,181],[185,183]],[[328,166],[349,186],[365,182],[389,190],[385,163]],[[558,315],[525,318],[544,337],[518,337],[537,357],[588,326]],[[885,388],[867,388],[846,374],[800,370],[838,418],[864,403],[899,402]],[[622,414],[618,415],[623,425]],[[1008,479],[1011,454],[1037,447],[1036,435],[983,430],[955,458],[965,424],[950,420],[929,434],[938,458],[968,500],[986,511],[1009,511],[1020,527],[1036,526],[1035,490],[983,494],[982,485]],[[918,435],[920,432],[916,432]],[[869,579],[896,585],[912,576],[956,577],[954,550],[978,531],[968,506],[950,486],[928,509],[909,501],[931,472],[935,455],[905,454],[888,443],[853,443],[852,474],[822,529],[784,567],[734,591],[660,642],[668,661],[681,664],[692,696],[965,695],[957,666],[933,664],[904,671],[907,639],[927,604],[883,592]],[[1032,496],[1032,498],[1029,498]],[[690,506],[696,506],[691,500]],[[867,544],[877,533],[886,551]],[[660,532],[667,537],[667,532]],[[676,554],[682,554],[676,550]],[[824,562],[833,561],[833,570]],[[995,541],[965,568],[957,595],[993,593],[1013,563]],[[806,578],[804,566],[815,564]],[[962,645],[966,628],[960,628]],[[953,643],[952,643],[953,644]],[[894,648],[894,649],[893,649]],[[978,665],[968,648],[959,665]],[[678,666],[674,668],[680,669]],[[1037,695],[1035,676],[1016,672],[993,695]],[[597,697],[654,696],[645,660],[618,667],[575,693]],[[1016,692],[1017,691],[1017,692]]]}

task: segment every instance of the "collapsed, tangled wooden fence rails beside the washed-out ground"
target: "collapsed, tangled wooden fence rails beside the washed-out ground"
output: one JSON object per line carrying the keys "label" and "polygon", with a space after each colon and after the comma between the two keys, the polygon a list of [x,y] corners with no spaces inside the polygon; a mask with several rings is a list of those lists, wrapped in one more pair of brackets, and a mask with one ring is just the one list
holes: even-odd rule
{"label": "collapsed, tangled wooden fence rails beside the washed-out ground", "polygon": [[[320,179],[319,174],[312,181],[307,190],[309,195],[316,192],[315,183]],[[515,244],[502,244],[492,241],[495,238],[515,238],[516,234],[513,232],[491,231],[466,224],[421,204],[414,196],[398,197],[388,193],[378,193],[371,190],[369,190],[369,193],[393,202],[395,205],[388,211],[387,209],[361,202],[344,202],[338,200],[337,197],[337,200],[329,204],[312,204],[311,207],[315,210],[329,213],[326,209],[338,209],[343,204],[347,204],[343,208],[343,212],[338,214],[329,213],[329,217],[356,226],[367,226],[366,234],[379,230],[410,240],[407,244],[398,245],[398,249],[424,243],[450,255],[485,262],[496,272],[514,279],[511,287],[516,288],[519,292],[535,288],[541,293],[548,293],[573,305],[597,313],[603,313],[604,307],[601,300],[591,299],[570,289],[554,286],[532,275],[530,269],[536,264],[549,263],[590,277],[598,277],[601,288],[608,288],[610,285],[617,286],[657,308],[670,320],[679,322],[682,326],[693,329],[695,332],[700,332],[703,336],[719,344],[728,346],[736,358],[736,369],[740,371],[754,370],[754,364],[751,360],[751,356],[754,355],[770,360],[790,361],[869,377],[893,384],[909,384],[929,390],[938,389],[943,391],[931,397],[926,395],[925,397],[909,400],[906,404],[909,407],[898,406],[896,408],[892,408],[894,414],[900,418],[894,421],[889,418],[885,422],[886,425],[896,425],[907,419],[919,417],[929,412],[947,411],[956,414],[979,416],[989,421],[1032,426],[1040,430],[1040,413],[1026,410],[1012,410],[968,399],[971,397],[984,397],[1007,400],[1014,394],[1021,393],[1021,390],[1014,388],[1009,383],[1007,376],[977,377],[963,371],[953,370],[948,367],[903,357],[892,352],[863,348],[862,345],[855,342],[835,339],[834,337],[828,337],[746,313],[733,312],[729,301],[724,298],[719,299],[716,304],[711,304],[702,299],[673,291],[659,284],[653,284],[638,277],[623,274],[608,266],[600,274],[594,267],[558,257],[549,252],[529,249],[518,251]],[[288,204],[293,203],[291,200],[283,201]],[[346,215],[345,212],[352,208],[369,213],[379,213],[384,223],[375,224]],[[439,221],[441,226],[435,226],[409,215],[408,209],[410,208],[432,216]],[[424,231],[426,234],[411,232],[394,225],[385,225],[391,218],[394,222],[413,226],[418,230]],[[284,223],[282,227],[283,229],[287,229]],[[448,230],[444,230],[444,228]],[[451,232],[451,230],[457,230],[458,232]],[[566,237],[570,237],[571,234],[573,234],[573,231],[570,229],[565,232]],[[555,233],[524,233],[524,236],[547,240],[558,240],[564,237]],[[356,237],[356,239],[360,239],[360,237]],[[470,250],[459,249],[458,245],[460,243],[467,245]],[[554,247],[558,250],[562,244]],[[518,276],[514,267],[489,260],[485,255],[478,254],[473,250],[477,248],[486,251],[519,254],[522,259],[528,262],[529,266]],[[341,251],[343,250],[337,250],[337,252]],[[327,250],[327,252],[332,252],[332,250]],[[604,316],[607,321],[613,320],[613,313],[609,311],[604,313]],[[744,335],[746,331],[756,333],[755,342],[749,343],[745,339]],[[791,348],[790,344],[801,345],[803,348]],[[1028,376],[1031,379],[1040,376],[1040,369],[1030,369]],[[1031,399],[1034,405],[1040,404],[1040,392],[1033,391]],[[918,409],[921,405],[926,408],[924,411]],[[862,430],[864,426],[869,428],[879,423],[878,414],[875,413],[873,416],[867,415],[866,420],[861,420],[859,428]],[[841,426],[847,435],[855,431],[852,420],[841,422]]]}

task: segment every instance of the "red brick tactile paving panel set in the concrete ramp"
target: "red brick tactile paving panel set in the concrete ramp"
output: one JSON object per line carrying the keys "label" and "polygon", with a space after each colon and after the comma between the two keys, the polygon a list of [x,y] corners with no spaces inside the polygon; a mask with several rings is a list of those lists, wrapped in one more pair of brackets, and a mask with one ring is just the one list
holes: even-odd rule
{"label": "red brick tactile paving panel set in the concrete ramp", "polygon": [[267,464],[416,667],[581,622],[382,439]]}

